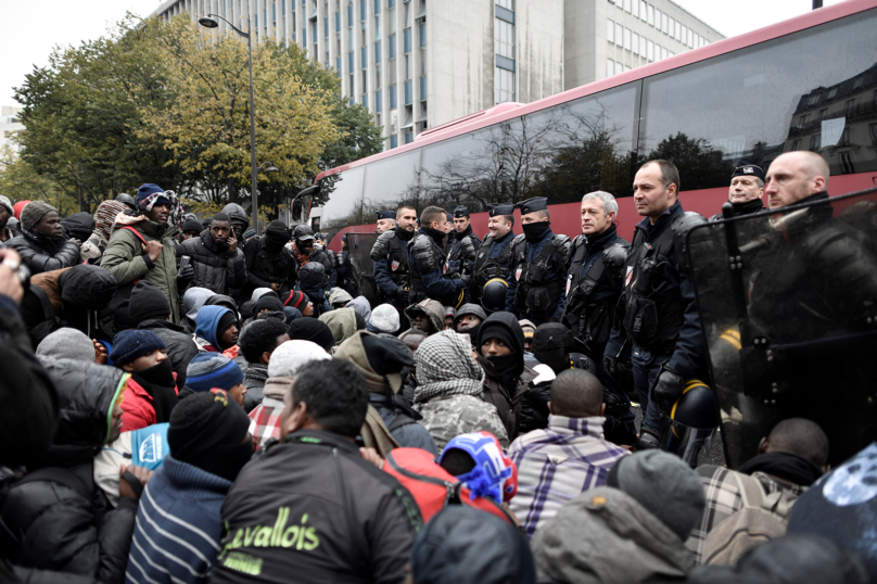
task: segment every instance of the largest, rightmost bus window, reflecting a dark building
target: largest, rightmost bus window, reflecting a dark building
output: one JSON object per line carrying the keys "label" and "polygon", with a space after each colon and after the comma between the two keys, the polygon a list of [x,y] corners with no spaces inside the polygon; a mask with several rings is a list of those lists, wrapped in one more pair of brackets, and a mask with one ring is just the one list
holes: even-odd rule
{"label": "largest, rightmost bus window, reflecting a dark building", "polygon": [[674,162],[683,190],[727,187],[739,158],[766,169],[798,149],[831,175],[877,169],[875,28],[869,10],[646,79],[639,162]]}

